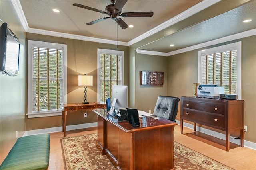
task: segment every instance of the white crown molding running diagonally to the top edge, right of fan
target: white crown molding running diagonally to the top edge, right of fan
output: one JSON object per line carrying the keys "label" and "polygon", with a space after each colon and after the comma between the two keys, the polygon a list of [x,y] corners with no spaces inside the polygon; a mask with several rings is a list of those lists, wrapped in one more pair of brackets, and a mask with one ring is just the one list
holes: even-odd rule
{"label": "white crown molding running diagonally to the top edge, right of fan", "polygon": [[137,43],[155,33],[158,33],[159,31],[162,31],[163,29],[170,27],[171,25],[174,25],[175,23],[178,23],[194,14],[197,12],[200,12],[201,10],[204,10],[205,8],[208,8],[209,6],[212,6],[213,4],[216,4],[220,0],[203,0],[202,2],[199,2],[198,4],[192,6],[191,8],[188,8],[184,12],[174,16],[173,18],[161,23],[160,25],[154,27],[153,29],[150,29],[146,33],[143,33],[142,35],[136,37],[135,39],[132,39],[131,41],[128,42],[128,45],[132,45],[134,43]]}

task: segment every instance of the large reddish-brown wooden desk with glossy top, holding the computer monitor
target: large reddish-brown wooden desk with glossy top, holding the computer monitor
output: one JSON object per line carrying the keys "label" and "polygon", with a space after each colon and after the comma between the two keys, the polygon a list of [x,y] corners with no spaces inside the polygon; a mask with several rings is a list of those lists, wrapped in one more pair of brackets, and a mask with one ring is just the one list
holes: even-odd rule
{"label": "large reddish-brown wooden desk with glossy top, holding the computer monitor", "polygon": [[102,154],[119,170],[174,170],[173,131],[177,123],[143,117],[140,127],[128,121],[115,123],[105,109],[98,115],[98,140]]}

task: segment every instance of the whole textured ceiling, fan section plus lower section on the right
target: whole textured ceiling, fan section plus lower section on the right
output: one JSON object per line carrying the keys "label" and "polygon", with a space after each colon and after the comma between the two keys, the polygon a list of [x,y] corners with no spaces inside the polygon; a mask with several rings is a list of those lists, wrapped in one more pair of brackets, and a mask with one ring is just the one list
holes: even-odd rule
{"label": "whole textured ceiling, fan section plus lower section on the right", "polygon": [[[209,2],[216,4],[204,7]],[[122,12],[153,11],[154,15],[151,18],[122,18],[128,25],[134,25],[127,29],[122,29],[111,19],[86,25],[108,15],[75,7],[74,3],[103,11],[111,4],[110,0],[20,0],[28,27],[38,29],[38,33],[40,30],[55,31],[131,44],[134,39],[170,24],[155,32],[160,35],[158,39],[151,36],[146,45],[138,48],[147,51],[168,53],[256,29],[256,0],[128,0]],[[202,10],[194,12],[195,6]],[[52,12],[53,8],[60,12]],[[248,18],[252,19],[250,23],[242,22]]]}

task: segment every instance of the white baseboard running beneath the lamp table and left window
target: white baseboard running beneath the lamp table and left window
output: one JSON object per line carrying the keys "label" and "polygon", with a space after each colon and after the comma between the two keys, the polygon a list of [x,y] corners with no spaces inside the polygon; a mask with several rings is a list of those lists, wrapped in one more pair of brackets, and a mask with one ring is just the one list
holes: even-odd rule
{"label": "white baseboard running beneath the lamp table and left window", "polygon": [[[79,125],[69,125],[69,126],[66,126],[66,131],[71,131],[71,130],[76,130],[76,129],[84,129],[84,128],[88,128],[88,127],[96,127],[97,125],[98,125],[97,122],[84,123],[84,124],[79,124]],[[23,136],[36,135],[36,134],[41,134],[41,133],[54,133],[54,132],[61,132],[61,131],[62,131],[62,126],[51,127],[51,128],[45,128],[45,129],[36,129],[36,130],[31,130],[31,131],[25,131]]]}

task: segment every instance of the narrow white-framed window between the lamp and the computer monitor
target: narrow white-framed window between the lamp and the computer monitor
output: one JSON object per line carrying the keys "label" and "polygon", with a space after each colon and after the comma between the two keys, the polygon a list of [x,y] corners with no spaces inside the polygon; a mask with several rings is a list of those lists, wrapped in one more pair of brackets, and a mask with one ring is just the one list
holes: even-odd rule
{"label": "narrow white-framed window between the lamp and the computer monitor", "polygon": [[112,85],[124,84],[124,51],[98,49],[98,101],[111,98]]}

